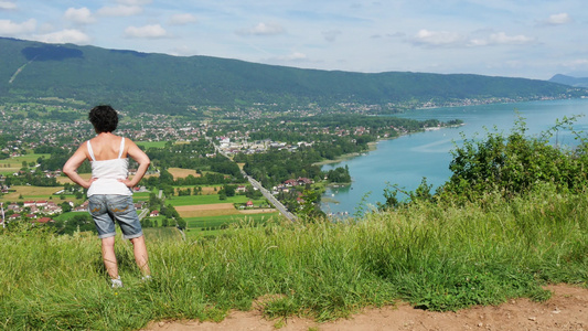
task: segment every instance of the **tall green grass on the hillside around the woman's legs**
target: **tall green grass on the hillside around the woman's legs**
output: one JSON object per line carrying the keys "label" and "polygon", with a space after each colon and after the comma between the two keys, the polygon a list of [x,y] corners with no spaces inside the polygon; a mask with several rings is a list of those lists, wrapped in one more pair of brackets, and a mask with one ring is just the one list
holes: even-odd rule
{"label": "tall green grass on the hillside around the woman's legs", "polygon": [[195,242],[148,242],[141,282],[117,238],[125,287],[110,289],[99,241],[21,228],[0,235],[0,328],[135,330],[221,320],[258,300],[268,318],[329,320],[406,300],[430,310],[544,300],[547,282],[588,285],[588,197],[544,186],[505,203],[416,202],[357,222],[238,225]]}

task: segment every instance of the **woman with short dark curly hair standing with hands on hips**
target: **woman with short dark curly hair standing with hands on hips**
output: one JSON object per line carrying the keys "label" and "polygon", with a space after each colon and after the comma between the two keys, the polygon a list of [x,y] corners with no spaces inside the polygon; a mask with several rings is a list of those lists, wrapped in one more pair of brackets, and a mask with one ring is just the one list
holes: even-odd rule
{"label": "woman with short dark curly hair standing with hands on hips", "polygon": [[[88,119],[97,136],[79,146],[63,166],[63,172],[76,184],[88,189],[88,211],[101,239],[104,265],[113,287],[122,286],[115,256],[115,220],[120,225],[124,237],[130,239],[133,245],[135,261],[143,274],[143,279],[149,279],[147,247],[132,204],[131,188],[139,183],[151,161],[130,139],[113,134],[118,125],[118,115],[113,107],[94,107],[89,111]],[[132,179],[128,179],[127,156],[139,163]],[[85,160],[89,160],[92,164],[89,180],[77,174],[77,169]]]}

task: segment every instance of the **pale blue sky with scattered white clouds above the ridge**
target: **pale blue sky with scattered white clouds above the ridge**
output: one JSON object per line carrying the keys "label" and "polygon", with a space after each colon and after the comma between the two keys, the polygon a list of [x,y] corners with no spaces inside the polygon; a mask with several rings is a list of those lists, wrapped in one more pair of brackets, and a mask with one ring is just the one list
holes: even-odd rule
{"label": "pale blue sky with scattered white clouds above the ridge", "polygon": [[0,36],[327,71],[588,77],[586,0],[0,0]]}

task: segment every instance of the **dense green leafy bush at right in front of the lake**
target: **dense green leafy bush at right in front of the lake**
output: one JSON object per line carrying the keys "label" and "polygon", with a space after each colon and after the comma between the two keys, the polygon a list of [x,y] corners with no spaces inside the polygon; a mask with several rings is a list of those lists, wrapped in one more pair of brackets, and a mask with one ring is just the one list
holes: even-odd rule
{"label": "dense green leafy bush at right in front of the lake", "polygon": [[525,122],[520,118],[506,137],[489,132],[482,140],[464,138],[463,146],[452,151],[452,175],[439,189],[439,197],[473,201],[488,192],[512,197],[547,182],[554,183],[558,192],[581,192],[588,183],[585,139],[576,134],[581,142],[568,149],[549,142],[554,132],[574,121],[565,118],[534,138],[525,136]]}

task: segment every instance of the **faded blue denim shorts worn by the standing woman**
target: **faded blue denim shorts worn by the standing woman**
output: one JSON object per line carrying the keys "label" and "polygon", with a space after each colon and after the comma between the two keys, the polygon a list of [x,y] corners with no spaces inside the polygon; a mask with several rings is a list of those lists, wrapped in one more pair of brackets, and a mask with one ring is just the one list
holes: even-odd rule
{"label": "faded blue denim shorts worn by the standing woman", "polygon": [[115,220],[125,239],[142,236],[141,223],[131,195],[94,194],[88,197],[88,212],[94,218],[98,238],[116,235]]}

